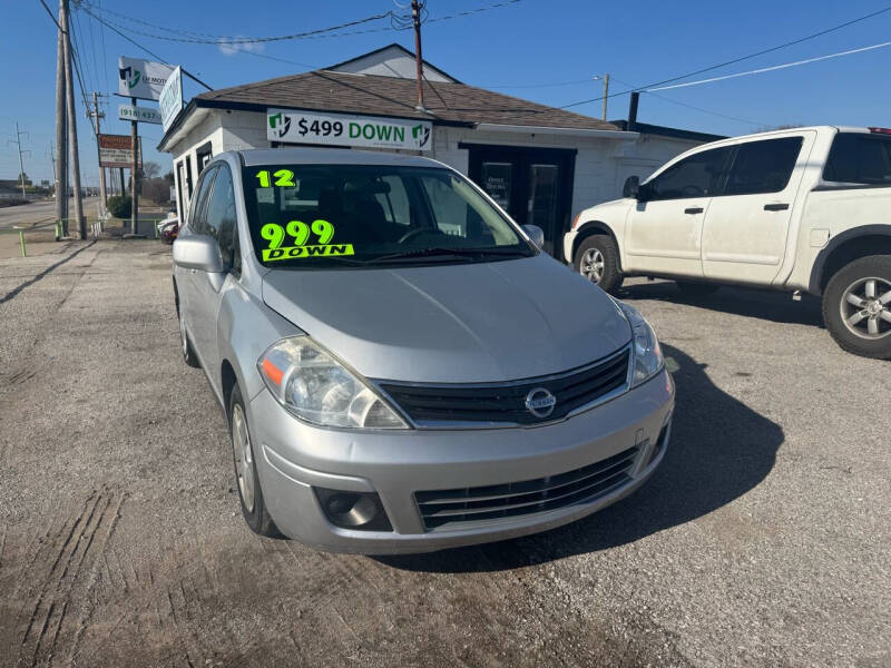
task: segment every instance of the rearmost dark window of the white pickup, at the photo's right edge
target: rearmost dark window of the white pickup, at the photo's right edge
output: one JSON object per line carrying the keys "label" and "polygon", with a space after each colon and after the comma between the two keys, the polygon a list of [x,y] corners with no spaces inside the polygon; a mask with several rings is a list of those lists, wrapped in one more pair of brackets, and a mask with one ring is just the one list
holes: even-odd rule
{"label": "rearmost dark window of the white pickup, at the photo's right edge", "polygon": [[823,180],[891,185],[891,138],[864,132],[840,132],[829,151]]}

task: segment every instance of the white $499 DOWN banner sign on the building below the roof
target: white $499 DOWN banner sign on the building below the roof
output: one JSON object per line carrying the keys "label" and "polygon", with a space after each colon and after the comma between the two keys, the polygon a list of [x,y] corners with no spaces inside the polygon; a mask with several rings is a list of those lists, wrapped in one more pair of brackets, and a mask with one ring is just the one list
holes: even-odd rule
{"label": "white $499 DOWN banner sign on the building below the roof", "polygon": [[429,120],[266,110],[266,138],[271,141],[430,150],[432,136]]}

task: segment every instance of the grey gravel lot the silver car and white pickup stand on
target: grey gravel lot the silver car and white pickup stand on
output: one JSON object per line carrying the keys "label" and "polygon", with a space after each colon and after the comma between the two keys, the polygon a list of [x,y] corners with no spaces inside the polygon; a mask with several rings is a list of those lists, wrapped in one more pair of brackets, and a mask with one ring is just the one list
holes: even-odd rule
{"label": "grey gravel lot the silver car and white pickup stand on", "polygon": [[891,665],[891,366],[815,301],[624,297],[677,382],[652,482],[541,536],[372,559],[244,524],[169,247],[0,261],[0,665]]}

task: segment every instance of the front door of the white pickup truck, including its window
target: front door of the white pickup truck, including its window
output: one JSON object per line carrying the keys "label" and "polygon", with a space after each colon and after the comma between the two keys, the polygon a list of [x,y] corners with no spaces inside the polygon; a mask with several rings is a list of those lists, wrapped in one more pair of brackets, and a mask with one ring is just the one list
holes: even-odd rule
{"label": "front door of the white pickup truck, including its window", "polygon": [[731,147],[695,153],[642,186],[642,196],[628,214],[625,269],[703,275],[703,222],[730,155]]}

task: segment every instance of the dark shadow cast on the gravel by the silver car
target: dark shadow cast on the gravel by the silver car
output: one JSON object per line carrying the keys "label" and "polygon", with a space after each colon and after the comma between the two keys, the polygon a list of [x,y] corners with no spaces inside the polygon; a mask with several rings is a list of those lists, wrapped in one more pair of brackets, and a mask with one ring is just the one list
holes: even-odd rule
{"label": "dark shadow cast on the gravel by the silver car", "polygon": [[400,569],[471,572],[512,569],[605,550],[708,514],[755,488],[773,469],[783,430],[716,387],[682,351],[672,442],[640,490],[584,520],[537,536],[431,554],[379,557]]}

